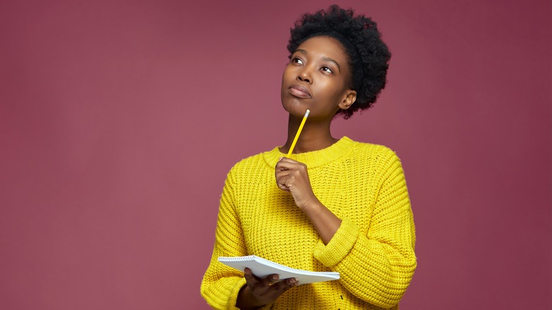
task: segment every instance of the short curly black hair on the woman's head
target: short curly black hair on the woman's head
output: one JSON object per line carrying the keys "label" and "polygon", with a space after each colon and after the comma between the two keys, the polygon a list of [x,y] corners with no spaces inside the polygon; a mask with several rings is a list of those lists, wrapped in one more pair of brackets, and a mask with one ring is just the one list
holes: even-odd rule
{"label": "short curly black hair on the woman's head", "polygon": [[337,5],[327,11],[314,14],[306,13],[290,30],[291,37],[287,50],[289,58],[302,42],[317,36],[328,36],[338,40],[347,53],[350,72],[350,86],[357,91],[357,100],[347,110],[339,110],[337,115],[351,117],[357,110],[366,110],[376,102],[379,93],[386,84],[387,69],[391,52],[381,40],[376,23],[364,16],[354,16],[351,8],[343,9]]}

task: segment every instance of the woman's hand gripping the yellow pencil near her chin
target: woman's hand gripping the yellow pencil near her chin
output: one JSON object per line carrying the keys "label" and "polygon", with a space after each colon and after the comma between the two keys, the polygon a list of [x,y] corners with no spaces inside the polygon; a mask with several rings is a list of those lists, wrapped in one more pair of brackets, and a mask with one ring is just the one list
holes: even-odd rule
{"label": "woman's hand gripping the yellow pencil near her chin", "polygon": [[282,157],[276,163],[275,176],[278,188],[291,193],[297,207],[303,209],[309,203],[318,202],[304,163]]}

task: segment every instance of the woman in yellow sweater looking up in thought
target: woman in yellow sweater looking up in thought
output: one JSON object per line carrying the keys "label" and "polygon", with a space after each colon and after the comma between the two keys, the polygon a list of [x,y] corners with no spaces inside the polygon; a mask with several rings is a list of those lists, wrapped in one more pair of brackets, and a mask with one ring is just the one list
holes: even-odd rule
{"label": "woman in yellow sweater looking up in thought", "polygon": [[[397,309],[416,267],[401,162],[386,147],[330,134],[334,117],[376,101],[391,54],[372,20],[338,6],[304,15],[291,33],[281,91],[287,142],[229,172],[202,296],[215,309]],[[247,255],[340,280],[261,279],[217,261]]]}

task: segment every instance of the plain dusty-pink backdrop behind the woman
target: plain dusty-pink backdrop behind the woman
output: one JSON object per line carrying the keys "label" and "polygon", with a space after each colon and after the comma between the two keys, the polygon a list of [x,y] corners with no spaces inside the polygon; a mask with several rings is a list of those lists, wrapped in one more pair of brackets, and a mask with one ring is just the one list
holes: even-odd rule
{"label": "plain dusty-pink backdrop behind the woman", "polygon": [[[289,28],[330,1],[1,1],[0,309],[208,309],[236,161],[284,142]],[[403,160],[403,309],[552,309],[551,1],[343,1],[393,57],[336,137]]]}

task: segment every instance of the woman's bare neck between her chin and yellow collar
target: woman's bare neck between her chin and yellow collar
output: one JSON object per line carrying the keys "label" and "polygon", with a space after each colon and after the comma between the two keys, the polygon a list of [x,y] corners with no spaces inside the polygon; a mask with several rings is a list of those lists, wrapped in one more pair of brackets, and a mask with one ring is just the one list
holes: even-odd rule
{"label": "woman's bare neck between her chin and yellow collar", "polygon": [[[284,146],[280,148],[282,153],[287,153],[289,147],[292,146],[293,139],[295,138],[295,134],[297,134],[302,119],[303,117],[289,115],[287,121],[287,140]],[[295,144],[293,153],[298,154],[307,151],[318,151],[320,149],[326,149],[326,147],[330,147],[337,142],[338,139],[333,138],[331,135],[330,122],[331,120],[314,120],[308,118],[299,135],[297,144]]]}

